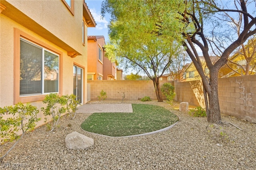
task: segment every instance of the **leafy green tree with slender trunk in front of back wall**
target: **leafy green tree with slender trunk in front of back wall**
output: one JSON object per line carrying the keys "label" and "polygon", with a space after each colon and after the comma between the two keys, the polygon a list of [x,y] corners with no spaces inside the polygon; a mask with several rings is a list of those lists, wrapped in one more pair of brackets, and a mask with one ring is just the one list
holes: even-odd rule
{"label": "leafy green tree with slender trunk in front of back wall", "polygon": [[112,17],[106,55],[144,71],[154,82],[158,101],[162,101],[159,78],[180,48],[180,30],[187,29],[173,19],[182,18],[177,11],[184,7],[179,1],[166,0],[106,0],[102,4],[102,14]]}

